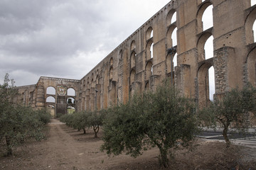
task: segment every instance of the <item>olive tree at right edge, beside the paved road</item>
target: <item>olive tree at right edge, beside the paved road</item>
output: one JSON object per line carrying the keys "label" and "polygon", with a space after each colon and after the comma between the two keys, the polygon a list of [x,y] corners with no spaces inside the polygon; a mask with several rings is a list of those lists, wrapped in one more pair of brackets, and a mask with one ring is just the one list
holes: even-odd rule
{"label": "olive tree at right edge, beside the paved road", "polygon": [[215,98],[210,106],[202,108],[198,118],[203,125],[223,127],[223,137],[226,147],[230,147],[228,130],[230,126],[240,132],[247,130],[249,112],[256,111],[256,89],[247,84],[243,89],[231,89],[219,98]]}

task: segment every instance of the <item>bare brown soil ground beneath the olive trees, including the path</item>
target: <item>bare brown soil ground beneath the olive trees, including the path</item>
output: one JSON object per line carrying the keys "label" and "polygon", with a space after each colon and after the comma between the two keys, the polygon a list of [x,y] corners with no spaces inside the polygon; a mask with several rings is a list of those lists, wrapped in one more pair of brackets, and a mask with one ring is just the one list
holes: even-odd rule
{"label": "bare brown soil ground beneath the olive trees, including the path", "polygon": [[[99,137],[102,132],[99,132]],[[108,157],[100,152],[102,140],[95,139],[92,130],[83,135],[53,120],[47,139],[30,141],[15,149],[14,156],[4,157],[1,145],[0,169],[162,169],[157,148],[144,152],[136,159],[122,154]],[[225,143],[198,140],[193,152],[177,152],[168,169],[256,169],[256,150],[235,146],[225,149]]]}

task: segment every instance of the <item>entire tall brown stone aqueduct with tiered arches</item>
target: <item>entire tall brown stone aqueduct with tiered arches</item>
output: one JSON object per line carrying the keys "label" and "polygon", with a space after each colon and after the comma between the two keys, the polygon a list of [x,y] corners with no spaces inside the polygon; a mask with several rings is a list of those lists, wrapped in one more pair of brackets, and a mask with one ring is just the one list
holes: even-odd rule
{"label": "entire tall brown stone aqueduct with tiered arches", "polygon": [[[208,69],[214,67],[215,96],[256,81],[256,5],[253,0],[172,0],[107,55],[80,80],[41,77],[36,85],[18,87],[16,102],[67,113],[107,108],[125,102],[134,91],[154,89],[161,80],[206,106]],[[205,28],[203,13],[213,8]],[[211,11],[211,10],[210,10]],[[176,38],[175,38],[176,37]],[[213,38],[213,55],[206,41]],[[176,61],[175,61],[176,60]],[[48,94],[48,87],[54,93]],[[73,95],[68,94],[73,89]],[[48,102],[47,98],[54,98]],[[69,102],[68,98],[73,98]]]}

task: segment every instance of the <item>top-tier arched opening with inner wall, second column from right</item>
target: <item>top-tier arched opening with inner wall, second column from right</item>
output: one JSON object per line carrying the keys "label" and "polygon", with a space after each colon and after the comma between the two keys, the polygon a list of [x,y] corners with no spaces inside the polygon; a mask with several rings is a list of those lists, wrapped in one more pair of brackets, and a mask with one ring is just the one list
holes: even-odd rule
{"label": "top-tier arched opening with inner wall, second column from right", "polygon": [[210,1],[201,4],[197,13],[198,33],[213,27],[213,4]]}

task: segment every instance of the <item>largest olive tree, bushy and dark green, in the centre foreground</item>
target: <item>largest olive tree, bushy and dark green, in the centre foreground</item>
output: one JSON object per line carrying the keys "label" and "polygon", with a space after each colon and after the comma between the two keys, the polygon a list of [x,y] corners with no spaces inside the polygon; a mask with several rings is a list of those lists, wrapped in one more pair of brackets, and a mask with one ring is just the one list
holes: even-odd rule
{"label": "largest olive tree, bushy and dark green, in the centre foreground", "polygon": [[169,166],[176,149],[189,147],[198,131],[193,101],[167,83],[108,110],[103,124],[102,150],[137,157],[150,147],[159,148],[159,162]]}

